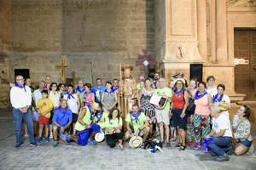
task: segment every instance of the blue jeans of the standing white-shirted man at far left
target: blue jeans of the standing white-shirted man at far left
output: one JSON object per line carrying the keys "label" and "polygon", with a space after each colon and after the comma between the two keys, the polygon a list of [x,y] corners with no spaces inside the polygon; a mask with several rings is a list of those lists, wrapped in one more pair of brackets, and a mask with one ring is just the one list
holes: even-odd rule
{"label": "blue jeans of the standing white-shirted man at far left", "polygon": [[16,143],[21,144],[22,142],[22,119],[24,119],[26,122],[29,142],[34,142],[34,126],[31,109],[28,109],[26,113],[22,113],[19,109],[13,108],[13,116],[15,122]]}

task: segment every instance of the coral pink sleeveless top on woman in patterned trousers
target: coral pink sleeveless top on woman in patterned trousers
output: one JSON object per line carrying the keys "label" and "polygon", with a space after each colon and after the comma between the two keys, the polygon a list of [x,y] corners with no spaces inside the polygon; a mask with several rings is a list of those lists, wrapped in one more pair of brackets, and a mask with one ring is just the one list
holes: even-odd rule
{"label": "coral pink sleeveless top on woman in patterned trousers", "polygon": [[199,116],[210,116],[208,94],[200,99],[195,99],[195,114]]}

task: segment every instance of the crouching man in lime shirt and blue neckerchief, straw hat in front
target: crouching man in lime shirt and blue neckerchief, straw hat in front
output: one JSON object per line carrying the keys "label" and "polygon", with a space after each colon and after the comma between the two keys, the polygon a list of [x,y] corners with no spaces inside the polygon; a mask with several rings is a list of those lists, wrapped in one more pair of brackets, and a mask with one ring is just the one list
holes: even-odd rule
{"label": "crouching man in lime shirt and blue neckerchief, straw hat in front", "polygon": [[149,123],[144,113],[139,112],[139,106],[137,104],[132,105],[132,111],[129,114],[127,114],[127,116],[125,117],[125,121],[127,122],[126,129],[129,133],[129,135],[125,136],[125,138],[131,139],[131,137],[133,136],[143,136],[144,145],[144,142],[148,138],[149,134]]}

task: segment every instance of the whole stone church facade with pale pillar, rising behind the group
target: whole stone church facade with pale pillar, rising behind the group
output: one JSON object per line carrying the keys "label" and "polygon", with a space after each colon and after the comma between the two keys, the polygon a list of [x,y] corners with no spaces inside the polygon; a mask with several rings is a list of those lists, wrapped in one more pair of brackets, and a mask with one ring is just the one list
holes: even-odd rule
{"label": "whole stone church facade with pale pillar, rising behind the group", "polygon": [[15,70],[28,69],[34,85],[46,75],[61,82],[55,65],[65,55],[73,82],[119,78],[119,64],[134,66],[137,78],[143,49],[167,81],[176,71],[189,80],[191,64],[201,64],[204,81],[213,75],[233,101],[241,100],[234,31],[256,28],[255,6],[253,0],[1,0],[0,108],[9,105]]}

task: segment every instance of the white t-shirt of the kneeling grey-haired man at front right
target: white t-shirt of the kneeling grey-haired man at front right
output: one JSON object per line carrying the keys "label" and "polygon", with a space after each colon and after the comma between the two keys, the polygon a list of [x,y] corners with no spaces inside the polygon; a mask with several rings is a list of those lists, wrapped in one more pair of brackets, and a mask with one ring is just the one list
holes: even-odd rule
{"label": "white t-shirt of the kneeling grey-haired man at front right", "polygon": [[214,129],[215,133],[219,133],[220,130],[226,129],[223,136],[232,137],[231,127],[230,127],[230,119],[228,116],[220,114],[218,118],[213,116],[212,118],[212,129]]}

